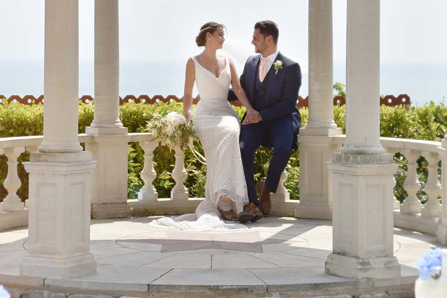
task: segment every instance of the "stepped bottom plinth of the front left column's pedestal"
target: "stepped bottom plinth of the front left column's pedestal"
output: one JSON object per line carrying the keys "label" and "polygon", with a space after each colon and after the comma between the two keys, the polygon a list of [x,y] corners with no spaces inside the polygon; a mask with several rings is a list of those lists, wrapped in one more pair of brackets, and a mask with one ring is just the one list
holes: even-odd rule
{"label": "stepped bottom plinth of the front left column's pedestal", "polygon": [[90,252],[64,257],[28,254],[20,264],[21,276],[66,279],[95,272],[96,261]]}

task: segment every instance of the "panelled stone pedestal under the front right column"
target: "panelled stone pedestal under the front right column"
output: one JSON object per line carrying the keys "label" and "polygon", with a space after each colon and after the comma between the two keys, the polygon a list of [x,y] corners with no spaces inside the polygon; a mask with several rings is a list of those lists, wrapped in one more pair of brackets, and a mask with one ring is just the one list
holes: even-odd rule
{"label": "panelled stone pedestal under the front right column", "polygon": [[[390,154],[334,154],[332,172],[333,252],[326,273],[347,278],[393,278],[400,266],[393,256],[393,174]],[[353,163],[353,160],[364,163]]]}

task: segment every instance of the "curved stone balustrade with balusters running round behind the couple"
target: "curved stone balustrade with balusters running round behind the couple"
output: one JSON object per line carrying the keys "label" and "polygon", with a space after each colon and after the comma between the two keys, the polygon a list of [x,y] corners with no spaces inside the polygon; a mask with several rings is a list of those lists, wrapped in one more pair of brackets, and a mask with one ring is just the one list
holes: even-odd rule
{"label": "curved stone balustrade with balusters running round behind the couple", "polygon": [[[138,142],[145,152],[145,166],[141,173],[144,186],[138,198],[128,200],[128,204],[133,209],[133,215],[179,215],[194,212],[203,198],[190,198],[183,184],[187,177],[183,152],[179,149],[173,152],[175,167],[172,175],[175,186],[172,188],[171,196],[158,198],[156,189],[152,185],[156,177],[152,161],[153,151],[158,147],[158,143],[150,141],[148,133],[129,134],[129,137],[129,142]],[[92,138],[91,135],[78,135],[79,143],[91,142]],[[334,144],[342,145],[345,142],[344,135],[331,138]],[[21,183],[17,175],[17,157],[25,150],[36,151],[42,140],[42,136],[0,139],[0,153],[8,158],[7,177],[4,181],[8,195],[0,204],[0,230],[27,225],[27,204],[25,202],[24,205],[15,194]],[[407,197],[402,204],[394,199],[394,225],[436,235],[442,212],[439,201],[442,188],[438,179],[438,163],[441,159],[438,152],[441,142],[395,138],[380,138],[380,142],[387,152],[393,154],[400,152],[407,159],[408,174],[404,183]],[[428,179],[425,184],[418,180],[417,160],[420,156],[425,157],[428,163]],[[289,199],[289,193],[284,187],[287,176],[287,172],[284,171],[278,191],[273,194],[272,215],[294,216],[298,201]],[[425,205],[422,205],[416,196],[421,189],[428,196]]]}

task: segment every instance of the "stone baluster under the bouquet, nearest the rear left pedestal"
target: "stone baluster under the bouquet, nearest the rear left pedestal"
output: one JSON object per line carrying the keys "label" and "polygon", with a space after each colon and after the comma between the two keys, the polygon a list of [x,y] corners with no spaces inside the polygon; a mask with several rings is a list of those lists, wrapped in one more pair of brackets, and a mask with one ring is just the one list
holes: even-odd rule
{"label": "stone baluster under the bouquet, nearest the rear left pedestal", "polygon": [[157,142],[141,142],[141,148],[145,151],[145,166],[141,172],[141,178],[145,185],[138,193],[138,201],[156,201],[158,193],[152,185],[152,181],[157,176],[153,168],[153,150],[158,146]]}

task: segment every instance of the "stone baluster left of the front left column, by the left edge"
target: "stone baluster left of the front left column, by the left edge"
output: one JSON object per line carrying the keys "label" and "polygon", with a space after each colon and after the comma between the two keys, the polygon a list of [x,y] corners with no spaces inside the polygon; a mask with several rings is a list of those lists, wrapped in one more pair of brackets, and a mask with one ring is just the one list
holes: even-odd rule
{"label": "stone baluster left of the front left column, by the left edge", "polygon": [[25,152],[24,147],[5,148],[4,154],[8,158],[8,176],[4,180],[4,187],[8,191],[8,195],[3,200],[3,211],[20,211],[23,210],[25,204],[22,203],[16,192],[22,182],[17,174],[17,157]]}

